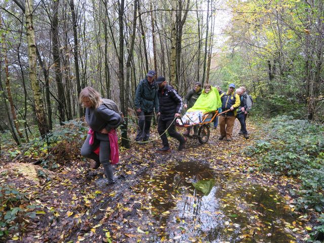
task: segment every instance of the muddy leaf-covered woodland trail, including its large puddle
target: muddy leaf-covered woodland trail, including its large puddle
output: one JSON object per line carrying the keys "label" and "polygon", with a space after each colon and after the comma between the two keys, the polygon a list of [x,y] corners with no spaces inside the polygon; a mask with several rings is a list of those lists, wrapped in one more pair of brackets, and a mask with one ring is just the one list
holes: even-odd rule
{"label": "muddy leaf-covered woodland trail, including its large puddle", "polygon": [[8,172],[7,183],[38,209],[7,242],[305,242],[308,219],[294,212],[288,194],[298,183],[257,170],[244,151],[264,135],[249,130],[251,139],[234,129],[226,142],[211,129],[207,144],[189,139],[180,152],[157,153],[159,139],[134,143],[120,151],[117,180],[108,187],[103,169],[89,169],[82,158],[55,172],[30,166],[47,180]]}

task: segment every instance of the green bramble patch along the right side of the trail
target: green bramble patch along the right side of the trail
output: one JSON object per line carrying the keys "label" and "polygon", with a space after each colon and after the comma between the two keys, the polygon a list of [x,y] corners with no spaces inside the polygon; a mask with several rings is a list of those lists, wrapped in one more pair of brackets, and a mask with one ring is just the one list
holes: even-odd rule
{"label": "green bramble patch along the right side of the trail", "polygon": [[[277,116],[262,127],[268,136],[250,146],[247,154],[257,155],[261,170],[300,179],[301,188],[291,190],[296,195],[297,209],[323,212],[324,126],[294,120],[291,116]],[[324,226],[318,227],[317,231]]]}

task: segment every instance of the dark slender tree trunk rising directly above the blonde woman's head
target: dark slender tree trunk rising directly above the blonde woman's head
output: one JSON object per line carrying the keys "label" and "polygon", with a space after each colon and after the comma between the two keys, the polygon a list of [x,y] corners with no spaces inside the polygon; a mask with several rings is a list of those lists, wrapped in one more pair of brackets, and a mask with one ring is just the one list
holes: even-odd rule
{"label": "dark slender tree trunk rising directly above the blonde woman's head", "polygon": [[[74,40],[74,47],[73,47],[73,56],[74,56],[74,72],[75,72],[75,81],[76,81],[76,90],[77,90],[77,97],[79,96],[82,88],[80,82],[80,71],[79,71],[79,58],[78,58],[78,40],[77,40],[77,22],[74,10],[74,2],[70,0],[70,9],[72,15],[72,22],[73,22],[73,40]],[[79,115],[80,117],[83,116],[83,108],[79,105]]]}

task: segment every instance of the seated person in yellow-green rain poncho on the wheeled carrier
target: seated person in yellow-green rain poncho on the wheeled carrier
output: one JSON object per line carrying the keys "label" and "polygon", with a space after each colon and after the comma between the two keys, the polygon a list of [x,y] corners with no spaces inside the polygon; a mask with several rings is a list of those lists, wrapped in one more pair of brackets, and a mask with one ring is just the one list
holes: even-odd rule
{"label": "seated person in yellow-green rain poncho on the wheeled carrier", "polygon": [[180,126],[201,123],[205,112],[216,111],[221,106],[222,102],[218,90],[207,84],[194,105],[187,110],[181,119],[177,119],[177,123]]}

